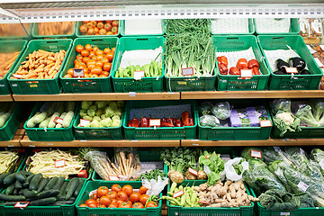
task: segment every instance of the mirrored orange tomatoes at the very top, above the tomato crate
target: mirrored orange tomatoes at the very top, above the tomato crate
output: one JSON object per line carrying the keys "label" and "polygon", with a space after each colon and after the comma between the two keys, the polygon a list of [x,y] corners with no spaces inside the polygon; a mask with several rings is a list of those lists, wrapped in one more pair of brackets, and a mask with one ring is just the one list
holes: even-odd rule
{"label": "mirrored orange tomatoes at the very top, above the tomato crate", "polygon": [[83,35],[112,35],[118,34],[119,21],[84,21],[79,27]]}

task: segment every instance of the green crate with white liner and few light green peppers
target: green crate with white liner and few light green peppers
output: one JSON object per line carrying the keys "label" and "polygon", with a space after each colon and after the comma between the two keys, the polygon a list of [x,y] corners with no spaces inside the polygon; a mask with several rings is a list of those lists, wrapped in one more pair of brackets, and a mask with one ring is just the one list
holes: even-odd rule
{"label": "green crate with white liner and few light green peppers", "polygon": [[[129,92],[162,92],[163,91],[163,78],[164,66],[162,69],[162,76],[155,77],[142,77],[140,80],[134,78],[115,77],[116,70],[120,67],[121,57],[126,50],[137,49],[157,49],[164,47],[165,38],[162,36],[154,37],[123,37],[119,41],[119,48],[116,62],[112,70],[112,84],[116,93],[129,93]],[[164,56],[163,56],[164,59]]]}

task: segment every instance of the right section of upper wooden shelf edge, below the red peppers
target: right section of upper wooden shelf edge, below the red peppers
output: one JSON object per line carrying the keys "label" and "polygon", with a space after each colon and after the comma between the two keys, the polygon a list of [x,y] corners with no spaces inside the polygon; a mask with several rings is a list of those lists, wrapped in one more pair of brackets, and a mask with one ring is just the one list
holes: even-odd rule
{"label": "right section of upper wooden shelf edge, below the red peppers", "polygon": [[181,99],[321,98],[323,90],[182,92]]}

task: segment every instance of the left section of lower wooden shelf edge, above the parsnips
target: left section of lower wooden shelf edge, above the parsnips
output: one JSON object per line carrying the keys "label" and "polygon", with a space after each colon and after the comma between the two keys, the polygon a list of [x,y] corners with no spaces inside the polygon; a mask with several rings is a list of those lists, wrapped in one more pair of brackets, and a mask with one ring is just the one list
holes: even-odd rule
{"label": "left section of lower wooden shelf edge, above the parsnips", "polygon": [[74,140],[31,141],[25,135],[22,147],[179,147],[180,140]]}

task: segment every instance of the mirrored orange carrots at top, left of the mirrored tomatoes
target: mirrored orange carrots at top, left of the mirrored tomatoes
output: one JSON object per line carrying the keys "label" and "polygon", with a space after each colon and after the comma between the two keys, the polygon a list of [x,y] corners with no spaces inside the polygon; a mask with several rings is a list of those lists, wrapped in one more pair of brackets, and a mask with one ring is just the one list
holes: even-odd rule
{"label": "mirrored orange carrots at top, left of the mirrored tomatoes", "polygon": [[37,23],[38,35],[72,34],[74,22]]}

